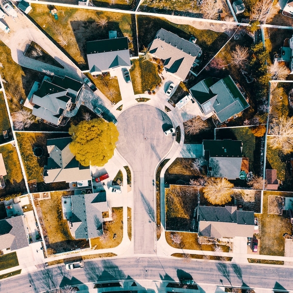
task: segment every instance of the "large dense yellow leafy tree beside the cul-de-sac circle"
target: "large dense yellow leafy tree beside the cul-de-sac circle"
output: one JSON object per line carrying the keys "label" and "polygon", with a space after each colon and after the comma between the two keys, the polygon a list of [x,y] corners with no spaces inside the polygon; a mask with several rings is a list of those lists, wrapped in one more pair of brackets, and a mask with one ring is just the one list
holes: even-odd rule
{"label": "large dense yellow leafy tree beside the cul-de-sac circle", "polygon": [[103,166],[113,156],[119,132],[116,126],[102,119],[82,121],[69,128],[70,151],[82,166]]}

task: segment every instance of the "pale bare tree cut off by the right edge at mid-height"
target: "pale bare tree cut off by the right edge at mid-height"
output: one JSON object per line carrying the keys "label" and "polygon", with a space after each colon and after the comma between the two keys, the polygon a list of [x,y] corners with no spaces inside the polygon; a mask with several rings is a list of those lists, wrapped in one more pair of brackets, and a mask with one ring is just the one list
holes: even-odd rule
{"label": "pale bare tree cut off by the right edge at mid-height", "polygon": [[284,154],[289,154],[293,151],[293,117],[282,116],[273,126],[268,137],[270,146],[281,150]]}

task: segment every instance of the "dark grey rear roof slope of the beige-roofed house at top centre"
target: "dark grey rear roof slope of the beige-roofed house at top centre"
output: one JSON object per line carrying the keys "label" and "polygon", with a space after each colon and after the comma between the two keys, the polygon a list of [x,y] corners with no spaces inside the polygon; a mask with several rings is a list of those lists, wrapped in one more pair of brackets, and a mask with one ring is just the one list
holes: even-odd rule
{"label": "dark grey rear roof slope of the beige-roofed house at top centre", "polygon": [[201,51],[201,48],[198,45],[189,42],[183,38],[180,38],[179,36],[164,30],[164,28],[161,28],[161,30],[157,32],[155,38],[165,41],[174,48],[182,50],[185,53],[190,54],[194,57],[196,57],[198,53]]}

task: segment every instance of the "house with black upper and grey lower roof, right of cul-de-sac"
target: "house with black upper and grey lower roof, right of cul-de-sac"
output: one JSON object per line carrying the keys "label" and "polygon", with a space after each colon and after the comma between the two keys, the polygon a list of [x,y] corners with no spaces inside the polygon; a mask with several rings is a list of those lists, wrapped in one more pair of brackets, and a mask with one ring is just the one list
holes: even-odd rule
{"label": "house with black upper and grey lower roof, right of cul-de-sac", "polygon": [[208,162],[212,177],[228,180],[239,178],[240,172],[247,172],[247,158],[242,157],[241,140],[203,140],[202,156]]}

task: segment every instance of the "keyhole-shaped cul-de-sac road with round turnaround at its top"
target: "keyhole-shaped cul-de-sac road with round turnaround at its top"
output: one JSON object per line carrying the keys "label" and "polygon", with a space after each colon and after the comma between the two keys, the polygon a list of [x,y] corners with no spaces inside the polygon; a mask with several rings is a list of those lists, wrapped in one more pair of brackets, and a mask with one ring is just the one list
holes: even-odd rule
{"label": "keyhole-shaped cul-de-sac road with round turnaround at its top", "polygon": [[137,104],[118,118],[118,152],[133,171],[134,254],[156,251],[155,170],[166,156],[174,137],[164,131],[172,127],[167,114],[146,104]]}

